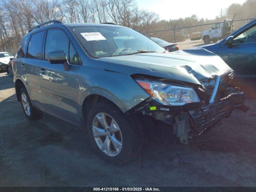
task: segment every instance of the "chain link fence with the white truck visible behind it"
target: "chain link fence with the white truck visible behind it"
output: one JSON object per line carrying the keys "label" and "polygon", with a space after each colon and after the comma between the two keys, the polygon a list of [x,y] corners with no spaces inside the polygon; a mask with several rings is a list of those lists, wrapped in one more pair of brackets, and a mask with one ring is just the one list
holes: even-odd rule
{"label": "chain link fence with the white truck visible behind it", "polygon": [[149,37],[156,37],[167,42],[175,42],[180,50],[196,48],[212,42],[218,42],[232,32],[238,30],[255,18],[229,19],[223,17],[217,20],[195,22],[182,26],[175,24],[173,27],[164,26],[160,30],[144,33]]}

